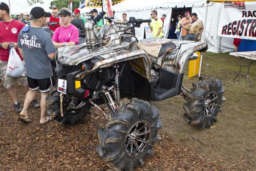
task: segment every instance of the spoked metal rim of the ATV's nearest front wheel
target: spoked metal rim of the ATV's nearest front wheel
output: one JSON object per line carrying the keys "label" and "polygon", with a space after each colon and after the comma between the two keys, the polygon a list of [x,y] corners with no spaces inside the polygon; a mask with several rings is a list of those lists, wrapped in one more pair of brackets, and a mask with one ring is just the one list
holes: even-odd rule
{"label": "spoked metal rim of the ATV's nearest front wheel", "polygon": [[150,124],[145,121],[140,121],[132,126],[132,129],[126,136],[125,152],[129,156],[138,156],[148,145],[150,140],[151,130]]}

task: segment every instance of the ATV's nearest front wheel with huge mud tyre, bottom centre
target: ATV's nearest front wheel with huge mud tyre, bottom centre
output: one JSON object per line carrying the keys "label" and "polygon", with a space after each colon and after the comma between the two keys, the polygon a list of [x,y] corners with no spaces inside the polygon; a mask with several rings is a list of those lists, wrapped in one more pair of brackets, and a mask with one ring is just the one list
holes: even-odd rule
{"label": "ATV's nearest front wheel with huge mud tyre, bottom centre", "polygon": [[152,147],[162,126],[159,111],[150,103],[132,99],[122,105],[104,129],[99,129],[97,151],[112,169],[132,170],[153,154]]}

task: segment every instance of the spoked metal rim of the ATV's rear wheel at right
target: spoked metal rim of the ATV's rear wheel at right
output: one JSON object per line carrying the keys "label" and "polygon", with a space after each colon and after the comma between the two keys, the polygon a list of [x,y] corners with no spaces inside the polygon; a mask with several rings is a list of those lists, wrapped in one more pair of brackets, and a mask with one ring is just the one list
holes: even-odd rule
{"label": "spoked metal rim of the ATV's rear wheel at right", "polygon": [[204,115],[206,117],[210,117],[215,112],[217,108],[217,100],[218,96],[214,92],[209,93],[206,97],[204,102]]}

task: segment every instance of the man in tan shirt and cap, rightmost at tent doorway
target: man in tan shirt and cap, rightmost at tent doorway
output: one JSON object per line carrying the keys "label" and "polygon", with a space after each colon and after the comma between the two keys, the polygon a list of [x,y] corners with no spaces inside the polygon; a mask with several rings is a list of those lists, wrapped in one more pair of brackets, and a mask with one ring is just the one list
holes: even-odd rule
{"label": "man in tan shirt and cap, rightmost at tent doorway", "polygon": [[191,19],[192,21],[188,27],[183,26],[186,30],[188,30],[188,34],[184,39],[200,41],[204,30],[203,22],[202,20],[198,19],[197,13],[195,12],[191,14]]}

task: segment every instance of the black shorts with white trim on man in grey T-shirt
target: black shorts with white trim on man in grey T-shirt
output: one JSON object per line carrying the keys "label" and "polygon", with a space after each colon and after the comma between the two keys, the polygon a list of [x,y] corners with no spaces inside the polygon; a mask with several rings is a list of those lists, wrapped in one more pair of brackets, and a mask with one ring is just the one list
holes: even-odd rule
{"label": "black shorts with white trim on man in grey T-shirt", "polygon": [[28,78],[29,89],[31,91],[40,90],[41,93],[46,93],[50,91],[50,86],[52,85],[52,78],[44,78],[44,79],[34,79]]}

